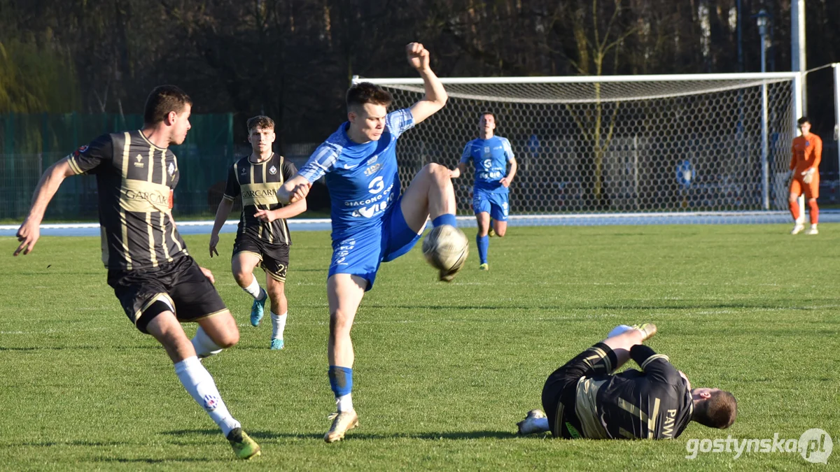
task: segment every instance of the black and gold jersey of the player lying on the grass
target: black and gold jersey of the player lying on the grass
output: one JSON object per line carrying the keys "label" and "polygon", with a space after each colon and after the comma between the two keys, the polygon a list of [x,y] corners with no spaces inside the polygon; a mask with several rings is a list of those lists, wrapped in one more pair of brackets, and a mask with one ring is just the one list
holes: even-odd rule
{"label": "black and gold jersey of the player lying on the grass", "polygon": [[575,414],[584,438],[673,439],[691,420],[694,402],[680,371],[664,354],[636,345],[642,371],[578,380]]}

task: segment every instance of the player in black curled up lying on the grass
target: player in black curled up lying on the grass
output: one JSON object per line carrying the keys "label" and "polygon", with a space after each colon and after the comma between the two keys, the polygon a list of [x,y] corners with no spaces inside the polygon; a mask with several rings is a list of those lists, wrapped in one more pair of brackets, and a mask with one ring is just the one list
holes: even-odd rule
{"label": "player in black curled up lying on the grass", "polygon": [[[517,423],[520,434],[560,438],[671,439],[690,421],[727,428],[735,422],[732,393],[691,388],[664,354],[644,346],[654,324],[618,326],[606,340],[555,370],[543,386],[543,408]],[[613,372],[627,359],[642,369]]]}

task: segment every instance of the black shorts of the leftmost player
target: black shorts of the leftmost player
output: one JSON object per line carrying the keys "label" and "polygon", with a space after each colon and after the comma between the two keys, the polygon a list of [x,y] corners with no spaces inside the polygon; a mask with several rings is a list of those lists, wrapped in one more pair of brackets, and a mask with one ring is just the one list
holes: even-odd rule
{"label": "black shorts of the leftmost player", "polygon": [[165,310],[178,321],[194,322],[228,309],[188,255],[154,269],[108,270],[108,285],[141,333],[148,333],[146,325]]}

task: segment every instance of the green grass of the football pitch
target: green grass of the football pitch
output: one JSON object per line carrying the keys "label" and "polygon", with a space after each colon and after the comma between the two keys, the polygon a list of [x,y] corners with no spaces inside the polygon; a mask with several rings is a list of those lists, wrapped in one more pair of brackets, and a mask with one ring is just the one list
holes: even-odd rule
{"label": "green grass of the football pitch", "polygon": [[[249,298],[207,237],[186,237],[239,320],[241,341],[205,360],[263,456],[235,462],[153,338],[105,283],[98,239],[44,238],[12,258],[0,239],[0,469],[805,469],[799,454],[700,454],[690,438],[840,441],[840,225],[510,228],[475,244],[452,284],[418,249],[383,265],[353,330],[360,428],[323,443],[328,233],[296,233],[286,349],[251,328]],[[468,230],[470,241],[474,234]],[[223,234],[226,252],[232,235]],[[546,376],[619,323],[654,322],[649,344],[693,385],[738,397],[727,431],[692,423],[674,441],[517,438]],[[194,325],[185,325],[192,335]],[[840,453],[837,453],[840,454]],[[840,458],[834,454],[829,464]]]}

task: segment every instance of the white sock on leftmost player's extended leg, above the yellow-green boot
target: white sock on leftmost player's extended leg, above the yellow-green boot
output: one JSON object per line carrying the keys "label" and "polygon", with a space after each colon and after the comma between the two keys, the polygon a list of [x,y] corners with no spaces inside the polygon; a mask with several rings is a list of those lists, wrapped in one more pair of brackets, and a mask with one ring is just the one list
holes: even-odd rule
{"label": "white sock on leftmost player's extended leg, above the yellow-green boot", "polygon": [[228,433],[232,429],[242,426],[234,417],[230,416],[228,407],[224,406],[222,396],[216,389],[213,376],[207,372],[207,369],[198,361],[197,357],[188,357],[181,362],[176,362],[175,373],[186,391],[192,396],[192,399],[204,408],[204,411],[213,418],[218,427],[222,428],[225,438],[228,437]]}

